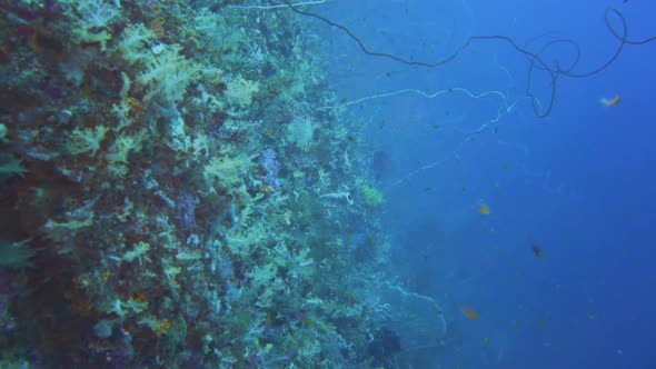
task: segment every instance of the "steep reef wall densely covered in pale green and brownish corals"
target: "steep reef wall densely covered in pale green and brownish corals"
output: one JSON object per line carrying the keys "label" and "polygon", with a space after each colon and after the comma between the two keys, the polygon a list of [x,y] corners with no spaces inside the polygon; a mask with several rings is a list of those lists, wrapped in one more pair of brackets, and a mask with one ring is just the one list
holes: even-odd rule
{"label": "steep reef wall densely covered in pale green and brownish corals", "polygon": [[227,0],[0,3],[6,367],[385,362],[384,202],[361,123],[321,109],[310,23]]}

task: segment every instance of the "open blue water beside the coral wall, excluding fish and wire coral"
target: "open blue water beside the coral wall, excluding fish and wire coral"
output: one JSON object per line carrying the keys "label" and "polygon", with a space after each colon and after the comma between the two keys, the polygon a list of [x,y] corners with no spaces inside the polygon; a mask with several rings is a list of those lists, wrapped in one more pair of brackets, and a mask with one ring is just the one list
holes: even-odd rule
{"label": "open blue water beside the coral wall, excluding fish and wire coral", "polygon": [[[371,50],[413,60],[443,59],[477,34],[507,36],[534,52],[571,39],[582,48],[574,71],[587,72],[618,44],[604,22],[609,6],[626,18],[630,39],[656,33],[649,1],[369,0],[315,10]],[[396,267],[449,322],[433,367],[656,367],[656,42],[626,46],[589,78],[558,79],[554,108],[540,119],[525,96],[528,58],[508,43],[477,41],[428,69],[366,56],[339,30],[322,31],[331,79],[347,100],[458,89],[348,107],[368,120],[370,150],[389,158],[379,184]],[[574,56],[560,44],[543,57],[565,68]],[[549,83],[535,74],[543,111]],[[615,96],[619,104],[599,103]]]}

